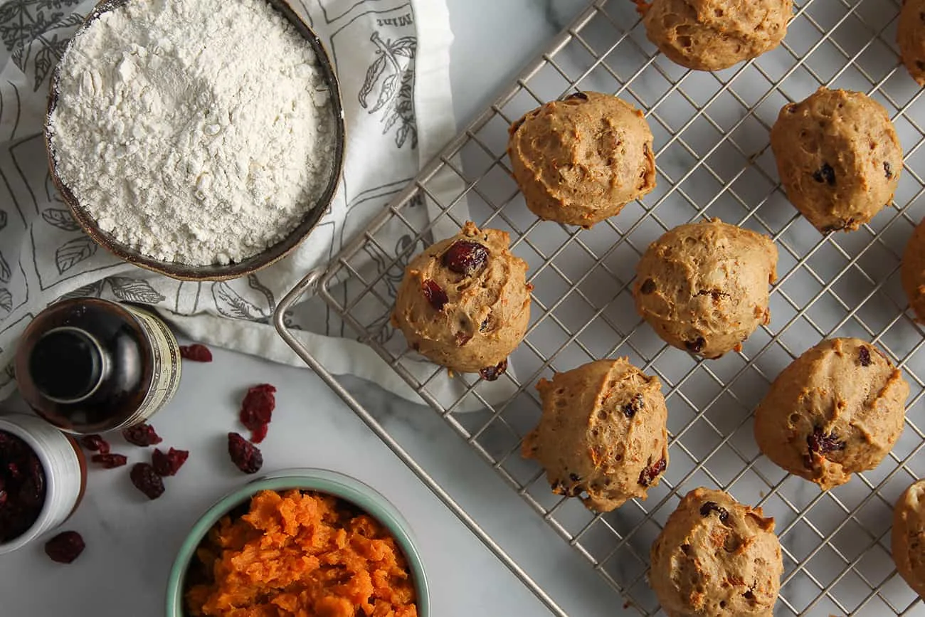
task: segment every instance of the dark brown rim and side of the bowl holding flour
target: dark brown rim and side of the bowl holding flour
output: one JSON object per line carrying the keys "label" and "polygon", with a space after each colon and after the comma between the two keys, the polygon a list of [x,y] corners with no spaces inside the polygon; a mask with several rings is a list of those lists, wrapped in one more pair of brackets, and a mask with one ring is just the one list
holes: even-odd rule
{"label": "dark brown rim and side of the bowl holding flour", "polygon": [[[94,19],[99,18],[103,13],[111,11],[118,6],[125,5],[130,1],[133,0],[102,0],[102,2],[93,8],[93,11],[87,16],[80,30],[77,31],[74,36],[84,31]],[[294,10],[292,10],[292,7],[289,6],[285,0],[266,0],[266,2],[269,3],[270,6],[273,6],[285,19],[289,20],[296,31],[302,34],[305,41],[311,45],[315,56],[318,57],[318,65],[321,68],[322,75],[324,75],[327,86],[331,92],[331,117],[329,121],[334,124],[335,131],[334,164],[330,169],[330,178],[327,180],[324,191],[314,200],[314,204],[305,204],[306,211],[304,216],[302,216],[302,222],[299,223],[299,226],[293,229],[283,240],[278,241],[263,252],[257,253],[240,262],[228,265],[187,265],[177,262],[161,261],[139,253],[128,244],[117,241],[112,235],[105,232],[96,224],[93,216],[78,203],[74,193],[68,189],[57,174],[55,151],[51,142],[52,131],[49,123],[52,112],[55,111],[57,105],[58,80],[60,74],[59,67],[55,68],[55,72],[52,76],[51,92],[48,96],[48,107],[45,114],[44,126],[45,149],[48,153],[48,167],[51,170],[52,180],[55,182],[57,190],[61,193],[62,199],[68,204],[70,213],[74,216],[74,220],[77,221],[80,228],[82,228],[97,244],[110,253],[115,254],[120,259],[129,262],[129,264],[138,265],[142,268],[153,270],[154,272],[179,280],[227,280],[228,278],[239,278],[256,272],[257,270],[261,270],[268,265],[275,264],[289,254],[308,237],[334,199],[334,193],[338,189],[340,173],[343,169],[345,143],[343,105],[340,101],[340,88],[337,76],[334,73],[334,65],[331,64],[330,57],[327,55],[324,45],[314,34],[312,29],[308,27],[308,24],[306,24]]]}

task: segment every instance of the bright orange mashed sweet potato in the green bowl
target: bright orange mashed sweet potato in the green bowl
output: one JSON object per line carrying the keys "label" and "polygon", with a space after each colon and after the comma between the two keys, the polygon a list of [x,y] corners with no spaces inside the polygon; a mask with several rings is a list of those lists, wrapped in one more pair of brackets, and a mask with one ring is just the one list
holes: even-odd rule
{"label": "bright orange mashed sweet potato in the green bowl", "polygon": [[417,617],[414,586],[388,530],[323,494],[265,490],[196,551],[192,615]]}

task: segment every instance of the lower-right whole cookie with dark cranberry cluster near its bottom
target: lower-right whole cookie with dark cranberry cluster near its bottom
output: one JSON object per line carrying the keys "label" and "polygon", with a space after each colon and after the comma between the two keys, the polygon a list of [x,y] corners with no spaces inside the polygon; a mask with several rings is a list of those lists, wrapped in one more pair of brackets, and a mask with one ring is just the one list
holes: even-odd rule
{"label": "lower-right whole cookie with dark cranberry cluster near its bottom", "polygon": [[826,339],[774,379],[755,410],[755,440],[784,470],[822,490],[873,469],[903,431],[909,385],[860,339]]}

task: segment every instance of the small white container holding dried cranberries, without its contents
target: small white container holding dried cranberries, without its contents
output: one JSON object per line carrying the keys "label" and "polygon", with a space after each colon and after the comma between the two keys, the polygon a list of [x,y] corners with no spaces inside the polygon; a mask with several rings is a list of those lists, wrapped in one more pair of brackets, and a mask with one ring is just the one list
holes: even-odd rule
{"label": "small white container holding dried cranberries, without its contents", "polygon": [[13,413],[0,416],[0,431],[25,441],[39,457],[45,472],[45,502],[35,523],[21,536],[0,543],[0,555],[29,544],[68,520],[77,509],[87,481],[87,465],[80,447],[42,419]]}

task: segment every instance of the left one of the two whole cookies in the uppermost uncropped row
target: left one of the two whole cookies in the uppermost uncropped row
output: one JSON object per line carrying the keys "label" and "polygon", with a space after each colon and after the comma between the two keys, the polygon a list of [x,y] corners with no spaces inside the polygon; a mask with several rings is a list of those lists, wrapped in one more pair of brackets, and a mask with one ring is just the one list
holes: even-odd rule
{"label": "left one of the two whole cookies in the uppermost uncropped row", "polygon": [[514,179],[544,220],[589,228],[655,188],[646,118],[610,94],[547,103],[508,132]]}

